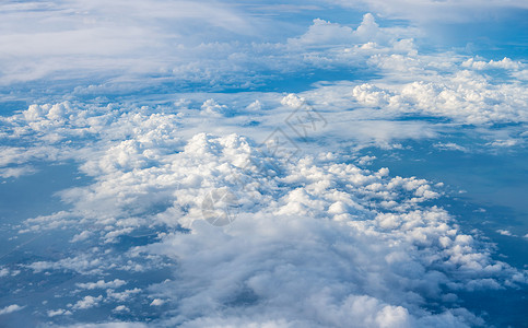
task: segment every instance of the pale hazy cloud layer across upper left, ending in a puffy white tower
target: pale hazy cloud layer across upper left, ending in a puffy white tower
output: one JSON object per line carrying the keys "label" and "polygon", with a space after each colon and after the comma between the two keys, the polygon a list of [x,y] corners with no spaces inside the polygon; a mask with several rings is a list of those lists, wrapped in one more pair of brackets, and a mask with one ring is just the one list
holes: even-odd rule
{"label": "pale hazy cloud layer across upper left, ending in a puffy white tower", "polygon": [[[355,30],[316,19],[294,37],[291,24],[256,12],[258,7],[240,3],[163,0],[148,10],[140,1],[16,7],[5,16],[11,32],[0,39],[5,49],[0,85],[17,85],[24,93],[24,83],[54,81],[79,94],[130,93],[165,83],[190,90],[258,87],[283,72],[362,67],[354,59],[361,54],[337,60],[335,48],[369,44],[401,50],[401,39],[420,35],[410,26],[379,27],[367,13]],[[35,27],[21,25],[24,20]],[[275,28],[282,28],[280,37],[270,35]]]}

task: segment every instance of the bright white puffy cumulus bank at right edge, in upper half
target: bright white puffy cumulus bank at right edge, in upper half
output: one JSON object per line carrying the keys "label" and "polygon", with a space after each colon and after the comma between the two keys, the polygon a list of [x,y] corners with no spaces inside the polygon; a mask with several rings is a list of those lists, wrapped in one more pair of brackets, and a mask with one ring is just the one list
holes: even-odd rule
{"label": "bright white puffy cumulus bank at right edge, in upper half", "polygon": [[521,85],[496,85],[469,71],[430,77],[427,80],[409,83],[384,81],[379,85],[372,82],[325,85],[314,92],[317,97],[309,96],[309,92],[305,96],[317,103],[328,102],[331,97],[331,102],[337,104],[349,102],[354,105],[355,102],[361,107],[380,109],[372,113],[374,117],[384,114],[385,117],[434,116],[472,125],[527,120],[524,107],[528,96]]}

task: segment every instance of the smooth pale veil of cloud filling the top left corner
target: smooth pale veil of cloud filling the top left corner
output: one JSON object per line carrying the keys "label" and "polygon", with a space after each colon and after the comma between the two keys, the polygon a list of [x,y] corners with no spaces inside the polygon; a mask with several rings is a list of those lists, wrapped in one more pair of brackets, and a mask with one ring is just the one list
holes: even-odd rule
{"label": "smooth pale veil of cloud filling the top left corner", "polygon": [[178,48],[169,44],[197,43],[189,39],[190,31],[202,37],[198,44],[208,35],[255,33],[233,7],[213,1],[7,1],[0,10],[9,31],[0,37],[4,85],[64,74],[78,79],[159,71]]}

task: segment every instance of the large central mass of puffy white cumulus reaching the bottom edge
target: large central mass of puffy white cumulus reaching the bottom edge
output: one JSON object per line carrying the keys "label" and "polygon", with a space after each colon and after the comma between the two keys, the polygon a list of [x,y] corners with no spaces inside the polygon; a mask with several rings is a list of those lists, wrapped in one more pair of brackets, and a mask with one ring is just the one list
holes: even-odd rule
{"label": "large central mass of puffy white cumulus reaching the bottom edge", "polygon": [[[289,110],[312,106],[308,102],[309,93],[277,99]],[[27,265],[35,273],[67,269],[102,274],[116,267],[133,271],[142,270],[134,263],[141,254],[169,258],[178,263],[179,279],[151,286],[156,295],[152,305],[167,300],[178,308],[168,323],[188,327],[214,320],[339,327],[352,317],[363,326],[441,326],[449,320],[464,327],[481,321],[459,309],[453,295],[525,279],[493,260],[486,246],[462,233],[445,210],[423,206],[441,197],[425,179],[391,177],[387,168],[361,169],[340,162],[338,154],[307,153],[288,161],[238,134],[198,133],[181,140],[179,116],[144,110],[85,108],[70,115],[67,125],[101,138],[96,149],[71,152],[83,154],[78,157],[81,167],[94,180],[61,192],[73,206],[71,212],[35,218],[28,226],[52,229],[81,220],[97,226],[104,241],[153,224],[192,233],[173,231],[119,258],[94,249]],[[203,221],[201,200],[223,189],[236,196],[239,214],[219,229]],[[114,290],[124,284],[115,279],[78,288],[106,289],[106,300],[118,302],[142,293]],[[439,313],[424,308],[445,300],[454,301]],[[101,302],[103,295],[87,295],[71,309]],[[222,319],[211,315],[219,312]]]}

